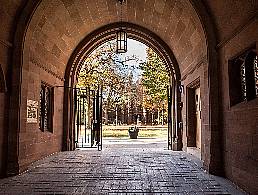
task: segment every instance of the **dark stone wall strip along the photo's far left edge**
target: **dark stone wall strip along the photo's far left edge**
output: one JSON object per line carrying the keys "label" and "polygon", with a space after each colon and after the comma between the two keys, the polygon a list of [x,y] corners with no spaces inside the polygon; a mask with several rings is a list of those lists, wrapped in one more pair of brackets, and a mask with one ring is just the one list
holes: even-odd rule
{"label": "dark stone wall strip along the photo's far left edge", "polygon": [[[14,0],[1,1],[0,5],[0,71],[3,73],[2,80],[5,82],[5,89],[0,89],[0,177],[5,175],[7,161],[7,140],[8,140],[8,107],[10,88],[11,52],[13,48],[13,32],[15,18],[17,17],[21,2]],[[0,86],[2,86],[1,83]]]}

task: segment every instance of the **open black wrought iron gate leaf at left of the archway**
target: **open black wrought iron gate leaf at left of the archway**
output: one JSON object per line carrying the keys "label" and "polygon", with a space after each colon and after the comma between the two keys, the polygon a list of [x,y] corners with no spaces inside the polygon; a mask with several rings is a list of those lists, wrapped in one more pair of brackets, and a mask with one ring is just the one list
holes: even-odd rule
{"label": "open black wrought iron gate leaf at left of the archway", "polygon": [[102,88],[74,89],[76,148],[102,150]]}

